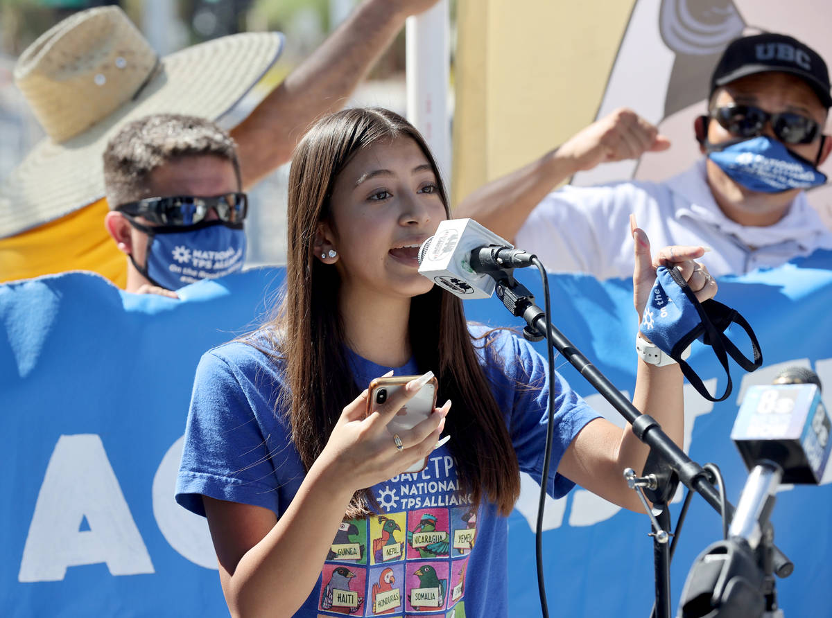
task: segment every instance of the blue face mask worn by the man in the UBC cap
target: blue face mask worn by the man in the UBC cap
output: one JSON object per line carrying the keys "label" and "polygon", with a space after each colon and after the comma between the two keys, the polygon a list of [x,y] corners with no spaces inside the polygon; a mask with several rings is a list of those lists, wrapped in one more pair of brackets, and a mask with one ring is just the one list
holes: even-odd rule
{"label": "blue face mask worn by the man in the UBC cap", "polygon": [[826,176],[802,156],[768,136],[730,141],[725,145],[706,142],[708,157],[731,180],[761,193],[809,189],[823,185]]}

